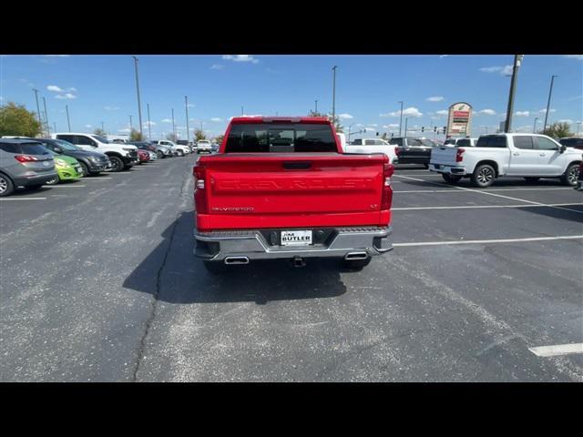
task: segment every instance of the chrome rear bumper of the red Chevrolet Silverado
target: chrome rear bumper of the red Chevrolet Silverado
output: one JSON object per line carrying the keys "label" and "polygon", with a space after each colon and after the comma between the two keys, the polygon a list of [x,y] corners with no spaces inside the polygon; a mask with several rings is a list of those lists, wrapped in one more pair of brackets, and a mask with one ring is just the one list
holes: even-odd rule
{"label": "chrome rear bumper of the red Chevrolet Silverado", "polygon": [[393,249],[387,228],[338,228],[328,245],[279,246],[270,244],[259,230],[194,231],[197,241],[193,253],[202,259],[224,260],[231,257],[247,259],[345,258],[353,252],[368,256],[382,255]]}

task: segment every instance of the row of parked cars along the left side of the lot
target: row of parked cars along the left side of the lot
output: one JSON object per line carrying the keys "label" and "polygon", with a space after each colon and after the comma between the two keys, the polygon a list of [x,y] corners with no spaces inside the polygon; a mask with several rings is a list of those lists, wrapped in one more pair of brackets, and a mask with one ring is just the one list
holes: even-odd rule
{"label": "row of parked cars along the left side of the lot", "polygon": [[[123,171],[135,165],[195,151],[211,153],[213,147],[179,145],[168,140],[109,141],[85,133],[54,133],[47,138],[0,138],[0,197],[17,187],[37,189],[66,180]],[[194,147],[193,147],[194,146]]]}

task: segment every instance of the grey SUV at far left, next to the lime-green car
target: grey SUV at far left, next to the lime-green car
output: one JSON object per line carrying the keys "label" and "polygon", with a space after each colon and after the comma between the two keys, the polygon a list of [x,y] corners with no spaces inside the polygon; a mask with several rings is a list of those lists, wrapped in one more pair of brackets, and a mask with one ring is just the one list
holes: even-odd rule
{"label": "grey SUV at far left, next to the lime-green car", "polygon": [[56,178],[53,154],[37,141],[0,139],[0,197],[16,187],[41,188]]}

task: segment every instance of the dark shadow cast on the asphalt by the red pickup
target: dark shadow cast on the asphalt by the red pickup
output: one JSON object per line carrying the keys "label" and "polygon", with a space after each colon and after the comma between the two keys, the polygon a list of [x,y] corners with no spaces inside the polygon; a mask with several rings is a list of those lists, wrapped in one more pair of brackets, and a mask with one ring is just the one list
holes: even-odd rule
{"label": "dark shadow cast on the asphalt by the red pickup", "polygon": [[194,257],[193,212],[182,213],[161,234],[164,240],[125,279],[123,287],[168,303],[256,302],[333,298],[346,292],[335,259],[307,260],[293,268],[283,260],[230,266],[211,274]]}

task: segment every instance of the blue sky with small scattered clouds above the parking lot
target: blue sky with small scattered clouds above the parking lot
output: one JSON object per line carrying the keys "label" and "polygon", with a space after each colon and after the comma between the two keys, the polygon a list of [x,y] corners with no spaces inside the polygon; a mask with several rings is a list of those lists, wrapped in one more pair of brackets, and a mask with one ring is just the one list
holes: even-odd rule
{"label": "blue sky with small scattered clouds above the parking lot", "polygon": [[[241,106],[247,115],[307,115],[332,112],[332,66],[336,113],[365,136],[398,132],[404,101],[408,127],[445,126],[446,109],[464,101],[474,107],[472,135],[494,132],[506,113],[512,55],[506,56],[139,56],[142,121],[150,107],[152,137],[172,131],[171,109],[180,137],[189,128],[222,134]],[[0,56],[0,103],[15,101],[36,111],[33,88],[46,98],[51,130],[108,133],[138,127],[134,61],[131,56]],[[567,120],[572,130],[583,118],[583,56],[525,56],[517,79],[513,127],[532,131],[544,121],[550,76],[549,122]],[[40,99],[41,110],[42,98]],[[148,135],[148,128],[144,126]],[[419,132],[420,134],[420,132]]]}

